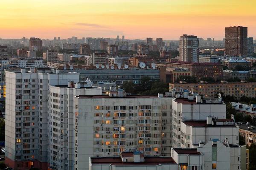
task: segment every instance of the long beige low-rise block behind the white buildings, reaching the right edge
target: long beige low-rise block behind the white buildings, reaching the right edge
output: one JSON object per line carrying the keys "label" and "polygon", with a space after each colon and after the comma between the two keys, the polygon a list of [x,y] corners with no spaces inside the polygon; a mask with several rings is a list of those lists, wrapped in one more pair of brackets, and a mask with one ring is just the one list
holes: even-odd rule
{"label": "long beige low-rise block behind the white buildings, reaching the right edge", "polygon": [[193,88],[194,93],[204,95],[205,97],[214,97],[220,91],[226,96],[231,95],[236,99],[240,99],[241,96],[256,96],[256,82],[169,83],[169,90],[173,88]]}

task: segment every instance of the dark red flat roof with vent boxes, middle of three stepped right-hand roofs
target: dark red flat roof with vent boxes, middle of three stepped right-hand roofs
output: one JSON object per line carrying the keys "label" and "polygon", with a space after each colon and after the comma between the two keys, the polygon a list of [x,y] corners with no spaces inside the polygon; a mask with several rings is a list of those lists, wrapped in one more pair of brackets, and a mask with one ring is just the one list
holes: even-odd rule
{"label": "dark red flat roof with vent boxes, middle of three stepped right-hand roofs", "polygon": [[236,127],[236,124],[233,119],[216,119],[213,121],[214,125],[207,125],[206,120],[193,120],[193,121],[184,121],[183,123],[192,127],[216,127],[216,126],[224,126],[224,127]]}

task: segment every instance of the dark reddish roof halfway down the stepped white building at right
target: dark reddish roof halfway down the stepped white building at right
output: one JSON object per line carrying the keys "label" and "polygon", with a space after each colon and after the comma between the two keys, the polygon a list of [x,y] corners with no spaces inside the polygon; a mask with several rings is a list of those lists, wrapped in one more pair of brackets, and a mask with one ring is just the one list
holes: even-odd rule
{"label": "dark reddish roof halfway down the stepped white building at right", "polygon": [[[233,119],[217,119],[216,121],[213,121],[213,122],[234,122]],[[192,126],[192,127],[236,127],[236,125],[207,125],[207,122],[206,120],[193,120],[193,121],[184,121],[183,122],[185,125],[188,125],[188,126]]]}

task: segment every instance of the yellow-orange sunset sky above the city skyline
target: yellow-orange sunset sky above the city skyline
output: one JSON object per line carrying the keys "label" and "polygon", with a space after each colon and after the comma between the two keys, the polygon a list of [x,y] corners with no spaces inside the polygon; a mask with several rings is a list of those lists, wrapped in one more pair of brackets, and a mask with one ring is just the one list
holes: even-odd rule
{"label": "yellow-orange sunset sky above the city skyline", "polygon": [[0,37],[222,40],[225,27],[247,26],[255,39],[255,6],[255,0],[1,0]]}

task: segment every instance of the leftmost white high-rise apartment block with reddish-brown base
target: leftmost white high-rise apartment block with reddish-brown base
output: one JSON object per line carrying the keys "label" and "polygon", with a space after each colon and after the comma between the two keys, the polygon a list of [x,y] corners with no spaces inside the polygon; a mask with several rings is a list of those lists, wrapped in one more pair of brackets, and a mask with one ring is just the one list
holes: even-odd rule
{"label": "leftmost white high-rise apartment block with reddish-brown base", "polygon": [[52,159],[47,155],[49,85],[67,85],[70,80],[78,82],[79,74],[47,68],[6,72],[5,159],[10,167],[47,170]]}

